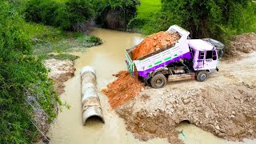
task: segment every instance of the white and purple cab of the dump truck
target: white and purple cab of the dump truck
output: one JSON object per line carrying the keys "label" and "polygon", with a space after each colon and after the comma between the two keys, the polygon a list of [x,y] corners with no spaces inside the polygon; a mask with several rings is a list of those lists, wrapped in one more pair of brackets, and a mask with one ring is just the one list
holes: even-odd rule
{"label": "white and purple cab of the dump truck", "polygon": [[218,70],[218,51],[215,46],[202,39],[190,39],[188,43],[193,54],[194,70],[207,70],[210,73]]}

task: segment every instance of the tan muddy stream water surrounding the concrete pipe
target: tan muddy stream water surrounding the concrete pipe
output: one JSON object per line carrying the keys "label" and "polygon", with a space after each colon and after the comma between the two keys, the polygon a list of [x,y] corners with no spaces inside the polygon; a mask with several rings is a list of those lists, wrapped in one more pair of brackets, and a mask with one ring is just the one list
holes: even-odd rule
{"label": "tan muddy stream water surrounding the concrete pipe", "polygon": [[[93,66],[97,73],[98,90],[106,88],[106,85],[114,80],[111,74],[119,70],[126,70],[125,50],[138,44],[142,38],[140,34],[95,29],[92,34],[102,38],[103,45],[90,48],[86,53],[73,53],[80,58],[75,62],[74,78],[66,82],[66,92],[62,94],[63,102],[70,105],[70,110],[63,109],[58,114],[54,126],[51,126],[51,143],[168,143],[166,139],[153,139],[147,142],[140,142],[133,134],[126,131],[122,118],[111,110],[107,98],[101,92],[99,97],[102,103],[102,110],[105,117],[105,124],[98,122],[98,119],[91,120],[82,126],[81,110],[81,85],[80,70],[83,66]],[[185,143],[226,143],[213,134],[207,133],[196,126],[181,124],[178,130],[183,130],[186,138],[180,134]]]}

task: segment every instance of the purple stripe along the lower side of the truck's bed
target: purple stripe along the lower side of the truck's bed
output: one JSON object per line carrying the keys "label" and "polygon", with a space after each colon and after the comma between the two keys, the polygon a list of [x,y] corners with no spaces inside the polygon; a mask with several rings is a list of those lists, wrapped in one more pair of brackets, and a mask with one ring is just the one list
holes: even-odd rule
{"label": "purple stripe along the lower side of the truck's bed", "polygon": [[144,77],[144,78],[146,78],[147,75],[148,75],[151,71],[157,70],[159,67],[168,66],[171,62],[177,62],[177,61],[179,61],[180,58],[182,58],[182,59],[183,59],[183,58],[190,59],[190,58],[191,58],[191,54],[190,54],[190,52],[188,52],[188,53],[182,54],[182,55],[180,55],[180,56],[178,56],[178,57],[176,57],[176,58],[172,58],[172,59],[170,59],[170,61],[163,62],[163,63],[161,63],[161,64],[158,65],[158,66],[154,66],[154,67],[152,67],[152,68],[150,68],[150,69],[148,69],[148,70],[138,71],[138,75],[139,75],[139,76],[142,76],[142,77]]}

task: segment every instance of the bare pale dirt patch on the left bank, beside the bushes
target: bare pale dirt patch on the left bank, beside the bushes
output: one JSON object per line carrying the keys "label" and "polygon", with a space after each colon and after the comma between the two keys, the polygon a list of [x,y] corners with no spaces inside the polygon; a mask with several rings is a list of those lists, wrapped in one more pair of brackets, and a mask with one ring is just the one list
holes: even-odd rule
{"label": "bare pale dirt patch on the left bank, beside the bushes", "polygon": [[74,62],[70,60],[47,59],[44,65],[50,69],[49,77],[54,80],[54,89],[58,94],[64,92],[64,83],[74,76]]}

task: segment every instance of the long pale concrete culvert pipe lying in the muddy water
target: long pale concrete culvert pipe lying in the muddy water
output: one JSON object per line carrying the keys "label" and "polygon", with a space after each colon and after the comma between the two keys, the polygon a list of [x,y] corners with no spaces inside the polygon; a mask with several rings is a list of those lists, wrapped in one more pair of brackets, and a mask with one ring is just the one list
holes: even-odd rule
{"label": "long pale concrete culvert pipe lying in the muddy water", "polygon": [[98,117],[104,123],[102,106],[98,98],[96,86],[96,73],[93,67],[86,66],[81,71],[81,94],[82,94],[82,124],[86,125],[86,120]]}

